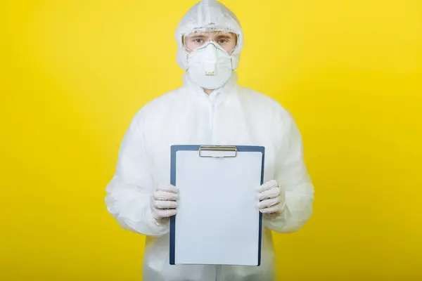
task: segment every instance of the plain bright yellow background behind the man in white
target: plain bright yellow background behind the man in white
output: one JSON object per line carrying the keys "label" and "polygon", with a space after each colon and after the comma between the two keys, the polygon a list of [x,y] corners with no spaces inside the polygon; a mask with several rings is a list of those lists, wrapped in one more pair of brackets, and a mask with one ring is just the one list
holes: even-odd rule
{"label": "plain bright yellow background behind the man in white", "polygon": [[[103,202],[124,131],[181,86],[194,1],[0,3],[0,280],[141,280]],[[280,280],[422,280],[422,1],[225,0],[239,83],[297,119],[315,185]]]}

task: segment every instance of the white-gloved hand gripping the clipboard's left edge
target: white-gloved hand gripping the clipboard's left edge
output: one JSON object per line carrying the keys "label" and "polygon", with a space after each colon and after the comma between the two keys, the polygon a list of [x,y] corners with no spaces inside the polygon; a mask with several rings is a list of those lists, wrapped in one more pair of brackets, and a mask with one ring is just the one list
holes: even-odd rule
{"label": "white-gloved hand gripping the clipboard's left edge", "polygon": [[151,212],[158,223],[168,221],[177,211],[179,190],[174,185],[158,185],[151,196]]}

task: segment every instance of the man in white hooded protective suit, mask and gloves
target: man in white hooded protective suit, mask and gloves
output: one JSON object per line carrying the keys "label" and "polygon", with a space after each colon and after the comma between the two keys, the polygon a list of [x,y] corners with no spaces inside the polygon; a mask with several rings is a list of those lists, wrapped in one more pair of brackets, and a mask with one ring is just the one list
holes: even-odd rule
{"label": "man in white hooded protective suit, mask and gloves", "polygon": [[[143,280],[274,280],[271,230],[293,232],[312,214],[314,189],[298,127],[275,100],[236,84],[243,32],[224,5],[204,0],[193,6],[176,40],[184,86],[151,101],[132,120],[106,189],[108,211],[123,228],[147,235]],[[170,265],[168,218],[177,213],[178,189],[168,183],[175,144],[265,147],[265,183],[257,191],[264,214],[261,266]]]}

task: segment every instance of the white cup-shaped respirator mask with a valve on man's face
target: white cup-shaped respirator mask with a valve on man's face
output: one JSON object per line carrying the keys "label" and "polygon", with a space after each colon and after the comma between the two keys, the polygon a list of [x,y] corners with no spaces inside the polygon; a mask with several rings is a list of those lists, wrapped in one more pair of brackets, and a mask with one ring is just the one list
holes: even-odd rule
{"label": "white cup-shaped respirator mask with a valve on man's face", "polygon": [[189,78],[204,89],[217,89],[231,77],[230,55],[214,41],[188,54],[188,63]]}

